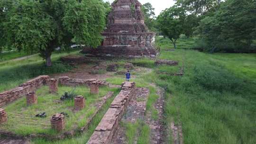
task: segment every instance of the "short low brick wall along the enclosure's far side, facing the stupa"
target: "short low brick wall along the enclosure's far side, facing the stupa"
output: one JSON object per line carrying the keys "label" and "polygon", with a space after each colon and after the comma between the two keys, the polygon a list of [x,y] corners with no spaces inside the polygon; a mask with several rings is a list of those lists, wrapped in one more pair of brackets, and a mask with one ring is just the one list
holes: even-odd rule
{"label": "short low brick wall along the enclosure's far side, facing the stupa", "polygon": [[72,79],[68,76],[59,77],[59,83],[64,86],[82,86],[86,85],[89,86],[92,83],[98,83],[99,86],[108,86],[107,82],[100,81],[97,79],[91,79],[91,80],[81,80],[81,79]]}

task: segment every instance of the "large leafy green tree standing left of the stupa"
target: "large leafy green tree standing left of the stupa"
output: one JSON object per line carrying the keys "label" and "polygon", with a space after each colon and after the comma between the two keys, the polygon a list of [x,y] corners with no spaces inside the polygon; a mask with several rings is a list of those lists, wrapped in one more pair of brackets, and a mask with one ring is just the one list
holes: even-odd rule
{"label": "large leafy green tree standing left of the stupa", "polygon": [[51,66],[58,46],[100,45],[105,14],[102,0],[15,0],[2,25],[8,45],[39,52]]}

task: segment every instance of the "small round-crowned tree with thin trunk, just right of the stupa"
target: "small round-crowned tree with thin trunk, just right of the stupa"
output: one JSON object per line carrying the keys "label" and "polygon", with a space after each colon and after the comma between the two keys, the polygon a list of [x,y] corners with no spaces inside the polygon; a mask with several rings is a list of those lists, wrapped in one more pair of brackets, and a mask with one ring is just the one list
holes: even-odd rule
{"label": "small round-crowned tree with thin trunk, just right of the stupa", "polygon": [[165,9],[157,18],[159,29],[164,36],[168,37],[176,48],[176,41],[184,33],[185,11],[174,5]]}

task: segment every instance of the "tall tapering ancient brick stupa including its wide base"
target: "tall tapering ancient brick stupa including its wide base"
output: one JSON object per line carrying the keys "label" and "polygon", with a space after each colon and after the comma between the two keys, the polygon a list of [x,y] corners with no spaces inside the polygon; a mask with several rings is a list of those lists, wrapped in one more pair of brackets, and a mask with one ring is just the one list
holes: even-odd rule
{"label": "tall tapering ancient brick stupa including its wide base", "polygon": [[96,49],[84,48],[82,53],[110,57],[155,57],[155,33],[149,32],[138,0],[115,0],[108,17],[104,40]]}

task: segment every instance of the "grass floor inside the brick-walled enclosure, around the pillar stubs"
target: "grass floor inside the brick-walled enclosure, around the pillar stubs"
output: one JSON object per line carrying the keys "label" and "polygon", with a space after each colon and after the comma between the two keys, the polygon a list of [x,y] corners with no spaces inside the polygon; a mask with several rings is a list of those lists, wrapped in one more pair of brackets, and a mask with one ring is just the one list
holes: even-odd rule
{"label": "grass floor inside the brick-walled enclosure, around the pillar stubs", "polygon": [[[93,106],[108,91],[115,91],[107,87],[100,88],[99,94],[90,94],[89,88],[81,87],[59,87],[57,94],[50,94],[49,88],[43,86],[37,90],[38,104],[27,106],[26,97],[4,107],[8,113],[8,122],[1,125],[0,129],[15,132],[18,135],[30,134],[48,134],[56,135],[58,132],[51,128],[50,118],[56,113],[67,113],[65,117],[64,131],[73,130],[85,126],[88,118],[95,113],[96,108]],[[72,92],[75,95],[82,95],[85,98],[85,108],[80,111],[74,110],[74,100],[61,101],[61,95],[64,92]],[[37,114],[46,112],[47,117],[36,117]]]}

